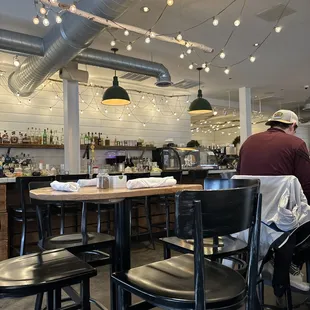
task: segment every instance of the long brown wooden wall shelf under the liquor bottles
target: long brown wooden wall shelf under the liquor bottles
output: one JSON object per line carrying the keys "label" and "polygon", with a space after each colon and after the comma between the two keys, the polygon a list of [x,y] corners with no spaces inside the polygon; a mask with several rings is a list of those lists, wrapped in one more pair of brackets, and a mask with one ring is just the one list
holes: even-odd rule
{"label": "long brown wooden wall shelf under the liquor bottles", "polygon": [[[18,143],[4,143],[0,144],[0,148],[21,148],[21,149],[63,149],[63,145],[50,145],[50,144],[18,144]],[[81,149],[85,149],[85,145],[81,145]],[[151,146],[99,146],[96,145],[95,150],[125,150],[125,151],[152,151],[156,147]]]}

